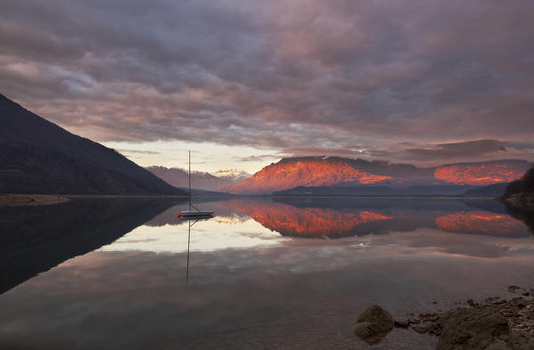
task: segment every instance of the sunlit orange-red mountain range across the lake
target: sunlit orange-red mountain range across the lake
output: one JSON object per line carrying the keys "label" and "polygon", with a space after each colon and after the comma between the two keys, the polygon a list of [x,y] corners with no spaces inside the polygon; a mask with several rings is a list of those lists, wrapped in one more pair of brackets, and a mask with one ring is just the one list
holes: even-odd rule
{"label": "sunlit orange-red mountain range across the lake", "polygon": [[[354,192],[355,190],[349,190],[349,187],[382,188],[381,191],[389,191],[387,188],[441,186],[442,189],[450,190],[451,186],[456,186],[456,194],[459,194],[478,186],[511,182],[521,177],[529,167],[530,163],[526,160],[516,159],[415,167],[409,164],[340,157],[286,158],[264,167],[240,183],[227,185],[219,190],[234,194],[255,194],[295,188],[345,187],[347,191]],[[435,191],[430,192],[429,194],[438,194]],[[454,192],[448,191],[448,194],[455,194]]]}

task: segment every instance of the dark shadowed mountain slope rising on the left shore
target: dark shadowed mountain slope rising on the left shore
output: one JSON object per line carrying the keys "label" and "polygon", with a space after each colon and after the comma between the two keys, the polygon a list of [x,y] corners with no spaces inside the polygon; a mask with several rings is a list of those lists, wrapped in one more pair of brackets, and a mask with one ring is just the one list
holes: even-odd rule
{"label": "dark shadowed mountain slope rising on the left shore", "polygon": [[185,194],[0,94],[0,193]]}

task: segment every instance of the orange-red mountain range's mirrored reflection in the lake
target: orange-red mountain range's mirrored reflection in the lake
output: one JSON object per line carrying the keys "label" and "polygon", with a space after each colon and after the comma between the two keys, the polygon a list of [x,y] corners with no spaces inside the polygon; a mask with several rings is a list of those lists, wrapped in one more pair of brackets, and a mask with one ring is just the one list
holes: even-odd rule
{"label": "orange-red mountain range's mirrored reflection in the lake", "polygon": [[[528,237],[529,228],[492,202],[445,200],[329,199],[228,200],[224,205],[250,216],[271,231],[302,238],[341,238],[420,228],[503,237]],[[333,201],[338,201],[334,206]],[[476,207],[478,204],[479,207]],[[483,210],[486,207],[487,210]]]}

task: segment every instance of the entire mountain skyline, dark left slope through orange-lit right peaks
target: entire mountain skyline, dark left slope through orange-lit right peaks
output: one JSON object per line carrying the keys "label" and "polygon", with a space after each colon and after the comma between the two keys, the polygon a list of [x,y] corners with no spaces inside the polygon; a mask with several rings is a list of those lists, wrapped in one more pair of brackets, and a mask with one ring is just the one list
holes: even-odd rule
{"label": "entire mountain skyline, dark left slope through orange-lit right peaks", "polygon": [[[119,152],[25,110],[0,94],[0,193],[174,194],[188,186],[184,169],[139,167]],[[415,167],[340,157],[285,158],[250,176],[193,172],[192,187],[234,194],[493,195],[520,178],[525,160]],[[164,181],[165,180],[165,181]],[[484,185],[494,185],[477,190]],[[176,187],[175,187],[176,186]]]}

